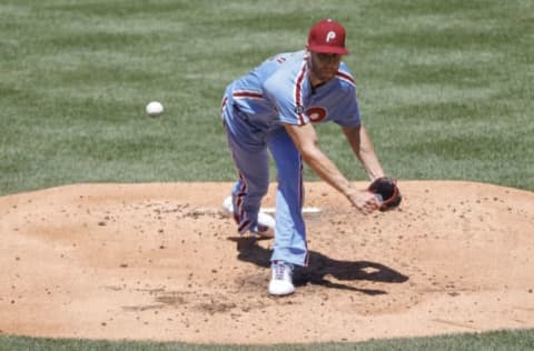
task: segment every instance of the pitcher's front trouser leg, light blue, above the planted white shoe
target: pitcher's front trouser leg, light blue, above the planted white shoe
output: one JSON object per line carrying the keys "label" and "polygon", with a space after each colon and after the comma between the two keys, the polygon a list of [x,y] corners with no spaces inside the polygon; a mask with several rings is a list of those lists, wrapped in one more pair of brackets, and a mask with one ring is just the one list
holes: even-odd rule
{"label": "pitcher's front trouser leg, light blue, above the planted white shoe", "polygon": [[277,167],[276,230],[271,261],[307,264],[303,160],[291,138],[285,132],[271,136],[267,142]]}

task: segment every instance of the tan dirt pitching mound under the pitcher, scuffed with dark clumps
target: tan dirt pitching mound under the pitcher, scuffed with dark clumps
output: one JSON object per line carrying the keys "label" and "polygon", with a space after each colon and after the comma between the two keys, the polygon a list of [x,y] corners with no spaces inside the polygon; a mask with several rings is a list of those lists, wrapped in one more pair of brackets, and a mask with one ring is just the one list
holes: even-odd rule
{"label": "tan dirt pitching mound under the pitcher, scuffed with dark clumps", "polygon": [[400,209],[364,217],[307,183],[322,209],[307,217],[310,263],[281,299],[267,294],[271,241],[237,240],[220,210],[230,183],[0,198],[0,332],[271,343],[534,328],[534,193],[399,185]]}

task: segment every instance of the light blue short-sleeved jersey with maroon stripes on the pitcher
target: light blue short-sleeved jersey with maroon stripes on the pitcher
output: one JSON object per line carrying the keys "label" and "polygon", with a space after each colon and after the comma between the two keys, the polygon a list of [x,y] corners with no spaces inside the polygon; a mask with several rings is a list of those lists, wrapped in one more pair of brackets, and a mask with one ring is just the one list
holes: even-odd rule
{"label": "light blue short-sleeved jersey with maroon stripes on the pitcher", "polygon": [[297,51],[269,58],[228,86],[227,103],[265,132],[281,128],[281,123],[359,124],[356,87],[347,67],[342,62],[336,79],[313,89],[306,54]]}

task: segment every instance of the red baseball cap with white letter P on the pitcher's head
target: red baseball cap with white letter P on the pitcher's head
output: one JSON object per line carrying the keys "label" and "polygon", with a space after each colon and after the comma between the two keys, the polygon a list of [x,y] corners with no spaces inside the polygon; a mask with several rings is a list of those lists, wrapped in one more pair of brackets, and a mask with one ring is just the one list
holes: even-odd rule
{"label": "red baseball cap with white letter P on the pitcher's head", "polygon": [[308,50],[348,54],[348,50],[345,49],[345,28],[330,19],[315,23],[309,30]]}

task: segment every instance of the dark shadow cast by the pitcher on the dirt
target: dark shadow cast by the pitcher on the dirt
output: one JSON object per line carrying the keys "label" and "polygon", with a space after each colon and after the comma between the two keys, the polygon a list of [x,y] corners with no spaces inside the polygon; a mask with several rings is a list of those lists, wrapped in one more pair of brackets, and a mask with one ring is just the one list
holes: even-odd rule
{"label": "dark shadow cast by the pitcher on the dirt", "polygon": [[[238,259],[264,268],[270,268],[271,251],[257,244],[253,238],[237,239]],[[333,277],[338,281],[367,280],[385,283],[403,283],[408,277],[384,264],[369,261],[338,261],[319,252],[309,251],[308,267],[296,267],[294,283],[297,287],[316,284],[333,289],[353,290],[369,295],[387,293],[384,290],[355,288],[348,284],[333,282],[327,279]]]}

